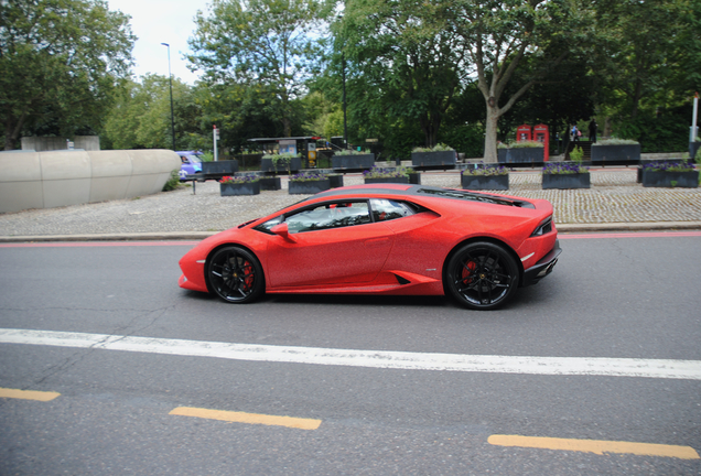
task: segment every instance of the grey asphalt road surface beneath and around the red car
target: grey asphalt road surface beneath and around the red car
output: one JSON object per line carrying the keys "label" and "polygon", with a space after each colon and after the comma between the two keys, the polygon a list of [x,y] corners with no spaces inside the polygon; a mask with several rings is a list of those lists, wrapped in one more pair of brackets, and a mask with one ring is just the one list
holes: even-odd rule
{"label": "grey asphalt road surface beneath and around the red car", "polygon": [[[699,232],[562,236],[553,273],[489,313],[447,298],[229,305],[177,288],[191,246],[0,247],[1,475],[701,473]],[[257,347],[213,357],[212,343]],[[446,355],[517,363],[447,370]],[[531,357],[553,359],[533,370]],[[386,368],[401,359],[416,367]],[[630,359],[695,377],[650,377]],[[596,375],[621,363],[641,370]],[[581,451],[592,440],[610,445]]]}

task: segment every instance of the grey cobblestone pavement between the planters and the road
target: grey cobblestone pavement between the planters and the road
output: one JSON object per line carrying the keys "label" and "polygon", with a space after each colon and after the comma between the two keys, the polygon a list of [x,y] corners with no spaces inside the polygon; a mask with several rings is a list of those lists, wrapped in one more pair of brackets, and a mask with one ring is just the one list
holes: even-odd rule
{"label": "grey cobblestone pavement between the planters and the road", "polygon": [[[646,188],[636,169],[592,170],[592,188],[543,191],[538,171],[511,172],[509,195],[546,198],[558,224],[701,223],[701,188]],[[360,174],[345,185],[363,183]],[[424,172],[423,185],[460,188],[460,172]],[[255,196],[219,196],[209,181],[134,199],[0,214],[0,237],[220,231],[293,204],[305,195],[282,190]]]}

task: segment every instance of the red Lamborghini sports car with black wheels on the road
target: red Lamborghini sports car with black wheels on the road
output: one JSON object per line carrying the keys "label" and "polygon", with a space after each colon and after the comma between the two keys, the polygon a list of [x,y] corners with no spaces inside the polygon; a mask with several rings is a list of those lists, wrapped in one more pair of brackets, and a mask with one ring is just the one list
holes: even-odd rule
{"label": "red Lamborghini sports car with black wheels on the road", "polygon": [[451,294],[492,310],[552,271],[557,237],[544,199],[346,186],[203,240],[180,260],[180,285],[230,303],[262,293]]}

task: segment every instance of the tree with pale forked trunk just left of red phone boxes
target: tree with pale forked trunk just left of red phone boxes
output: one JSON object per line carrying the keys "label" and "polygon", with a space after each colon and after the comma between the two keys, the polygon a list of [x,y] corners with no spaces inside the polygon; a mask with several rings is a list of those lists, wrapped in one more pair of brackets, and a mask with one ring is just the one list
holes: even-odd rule
{"label": "tree with pale forked trunk just left of red phone boxes", "polygon": [[[567,57],[570,41],[587,25],[575,0],[457,0],[454,29],[475,67],[486,105],[485,162],[496,162],[499,118]],[[525,61],[530,77],[504,97]]]}

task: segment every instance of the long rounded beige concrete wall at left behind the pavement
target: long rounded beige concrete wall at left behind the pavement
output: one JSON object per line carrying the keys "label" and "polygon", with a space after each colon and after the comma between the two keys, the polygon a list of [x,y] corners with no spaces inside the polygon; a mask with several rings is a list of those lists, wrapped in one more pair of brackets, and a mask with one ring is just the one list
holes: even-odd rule
{"label": "long rounded beige concrete wall at left behind the pavement", "polygon": [[0,213],[161,192],[180,170],[169,150],[0,153]]}

